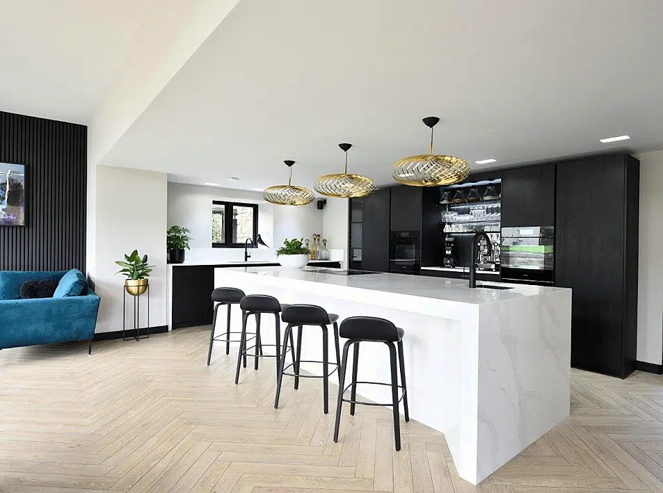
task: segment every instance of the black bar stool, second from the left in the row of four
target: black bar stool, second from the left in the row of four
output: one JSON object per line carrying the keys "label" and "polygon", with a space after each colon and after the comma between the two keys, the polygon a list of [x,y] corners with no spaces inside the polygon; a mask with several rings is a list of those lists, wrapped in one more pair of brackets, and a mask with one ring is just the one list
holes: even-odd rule
{"label": "black bar stool, second from the left in the row of four", "polygon": [[[241,339],[239,341],[239,355],[237,355],[237,372],[235,373],[235,385],[239,383],[239,369],[241,362],[243,360],[243,366],[246,368],[246,355],[248,350],[255,348],[255,362],[253,364],[254,369],[258,369],[258,358],[265,355],[262,354],[262,341],[260,339],[260,316],[262,314],[271,314],[276,320],[275,330],[276,330],[276,344],[266,344],[265,346],[274,346],[276,348],[276,354],[273,356],[276,358],[276,372],[278,378],[278,369],[280,368],[280,357],[281,357],[281,321],[280,314],[282,309],[288,305],[281,305],[276,298],[273,296],[266,296],[264,294],[249,294],[244,296],[239,302],[239,307],[241,308]],[[248,342],[247,335],[249,332],[246,332],[246,321],[248,317],[255,316],[255,344],[250,347],[246,347]],[[292,339],[291,339],[292,341]],[[285,346],[284,346],[285,347]],[[292,360],[294,361],[294,344],[290,343],[290,349],[292,354]],[[283,352],[285,356],[285,351]],[[272,357],[272,355],[266,355],[265,357]]]}

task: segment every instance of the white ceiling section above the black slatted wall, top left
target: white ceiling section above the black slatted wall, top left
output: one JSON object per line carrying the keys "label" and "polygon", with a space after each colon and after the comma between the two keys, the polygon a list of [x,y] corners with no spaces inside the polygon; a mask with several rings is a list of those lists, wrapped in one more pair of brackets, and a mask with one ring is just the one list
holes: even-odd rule
{"label": "white ceiling section above the black slatted wall, top left", "polygon": [[0,0],[0,109],[88,123],[153,0]]}

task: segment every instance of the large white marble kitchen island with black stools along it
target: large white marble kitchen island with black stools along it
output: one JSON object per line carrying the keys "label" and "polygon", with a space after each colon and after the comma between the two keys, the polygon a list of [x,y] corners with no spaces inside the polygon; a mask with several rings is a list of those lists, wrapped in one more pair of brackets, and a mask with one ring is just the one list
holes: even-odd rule
{"label": "large white marble kitchen island with black stools along it", "polygon": [[[445,434],[459,476],[473,484],[566,418],[570,394],[570,289],[481,284],[469,289],[464,280],[324,268],[215,273],[216,287],[319,305],[341,320],[383,317],[404,328],[410,417]],[[262,337],[273,341],[267,323]],[[320,338],[320,330],[304,329],[302,359],[321,359]],[[302,366],[321,374],[319,366]],[[389,382],[389,368],[383,344],[362,345],[358,380]],[[358,394],[390,402],[388,387],[359,385]]]}

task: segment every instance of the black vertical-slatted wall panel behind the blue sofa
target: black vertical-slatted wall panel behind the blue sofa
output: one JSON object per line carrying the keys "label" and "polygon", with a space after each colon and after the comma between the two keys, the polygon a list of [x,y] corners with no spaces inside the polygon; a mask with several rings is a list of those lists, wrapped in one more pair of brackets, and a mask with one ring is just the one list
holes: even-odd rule
{"label": "black vertical-slatted wall panel behind the blue sofa", "polygon": [[26,225],[0,226],[0,270],[85,272],[87,127],[0,111],[0,163],[26,175]]}

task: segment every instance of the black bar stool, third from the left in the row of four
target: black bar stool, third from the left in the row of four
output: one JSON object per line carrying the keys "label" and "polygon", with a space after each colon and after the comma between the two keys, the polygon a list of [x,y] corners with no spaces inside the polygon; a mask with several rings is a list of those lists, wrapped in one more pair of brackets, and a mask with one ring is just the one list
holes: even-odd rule
{"label": "black bar stool, third from the left in the row of four", "polygon": [[[281,356],[281,366],[278,367],[277,375],[277,384],[276,384],[276,398],[274,400],[274,408],[278,408],[278,398],[281,393],[281,381],[283,375],[290,375],[295,378],[295,389],[299,387],[299,378],[322,378],[323,386],[323,409],[325,414],[329,412],[329,371],[328,365],[330,364],[329,359],[329,340],[327,335],[327,325],[334,325],[334,343],[336,346],[336,364],[331,363],[334,366],[334,371],[337,371],[341,362],[340,348],[338,342],[338,315],[337,314],[328,314],[325,309],[318,307],[316,305],[289,305],[283,309],[281,314],[281,320],[286,322],[288,325],[285,328],[285,334],[283,334],[283,354]],[[314,359],[301,359],[301,338],[302,338],[302,329],[304,325],[319,325],[322,329],[322,361],[316,361]],[[297,355],[294,358],[294,361],[285,366],[285,353],[287,350],[286,344],[290,340],[290,346],[292,344],[292,328],[298,327],[297,332]],[[301,362],[305,363],[321,363],[322,364],[322,376],[319,375],[301,375],[299,373],[299,368]],[[285,370],[293,368],[294,373],[286,373]],[[340,384],[340,375],[339,375],[339,384]]]}

